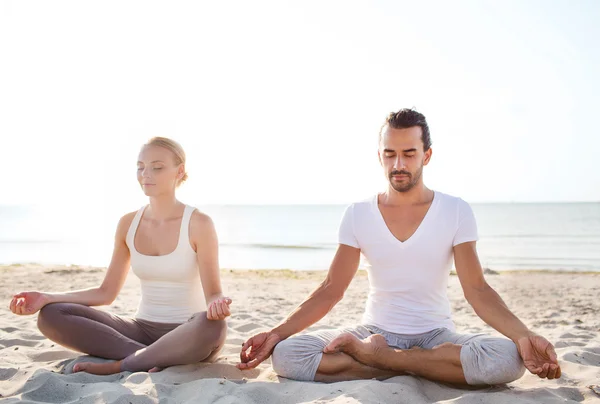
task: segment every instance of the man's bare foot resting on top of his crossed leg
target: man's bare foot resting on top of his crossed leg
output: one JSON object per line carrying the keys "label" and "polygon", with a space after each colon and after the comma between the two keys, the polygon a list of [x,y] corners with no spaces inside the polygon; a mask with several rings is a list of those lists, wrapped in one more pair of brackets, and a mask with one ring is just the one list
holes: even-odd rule
{"label": "man's bare foot resting on top of his crossed leg", "polygon": [[373,334],[360,340],[350,333],[344,333],[327,344],[323,353],[344,352],[364,365],[380,367],[381,356],[387,349],[390,347],[383,335]]}

